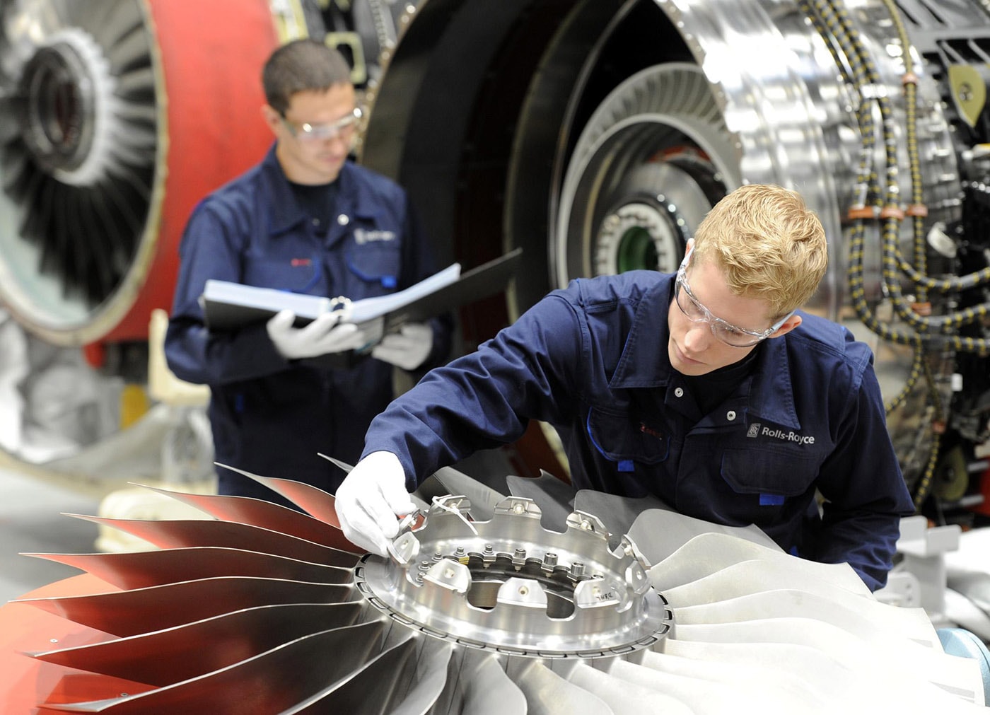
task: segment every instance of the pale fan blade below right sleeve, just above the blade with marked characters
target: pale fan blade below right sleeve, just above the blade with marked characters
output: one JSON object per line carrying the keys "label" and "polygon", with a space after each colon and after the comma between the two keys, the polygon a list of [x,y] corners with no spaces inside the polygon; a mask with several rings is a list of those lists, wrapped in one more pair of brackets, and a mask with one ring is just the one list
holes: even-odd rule
{"label": "pale fan blade below right sleeve, just above the blade with marked characters", "polygon": [[[595,512],[592,512],[595,513]],[[794,573],[807,574],[869,596],[870,590],[847,563],[809,562],[779,549],[769,549],[728,534],[709,532],[696,536],[662,562],[650,569],[650,583],[661,592],[711,575],[734,563],[746,561],[785,562]]]}

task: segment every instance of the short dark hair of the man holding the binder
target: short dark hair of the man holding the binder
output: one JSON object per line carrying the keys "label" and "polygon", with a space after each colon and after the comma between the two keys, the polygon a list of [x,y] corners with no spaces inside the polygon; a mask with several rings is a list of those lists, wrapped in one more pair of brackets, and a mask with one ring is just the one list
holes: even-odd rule
{"label": "short dark hair of the man holding the binder", "polygon": [[322,92],[342,83],[350,84],[350,67],[344,55],[309,38],[282,45],[261,70],[264,98],[279,114],[285,114],[296,92]]}

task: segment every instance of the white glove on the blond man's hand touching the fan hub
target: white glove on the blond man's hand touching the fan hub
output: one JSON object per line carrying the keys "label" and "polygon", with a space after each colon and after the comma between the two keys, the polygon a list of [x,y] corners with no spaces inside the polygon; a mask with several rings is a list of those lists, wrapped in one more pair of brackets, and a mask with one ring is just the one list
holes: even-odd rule
{"label": "white glove on the blond man's hand touching the fan hub", "polygon": [[337,489],[337,518],[354,546],[380,557],[399,533],[399,515],[416,511],[406,491],[406,472],[391,452],[358,461]]}

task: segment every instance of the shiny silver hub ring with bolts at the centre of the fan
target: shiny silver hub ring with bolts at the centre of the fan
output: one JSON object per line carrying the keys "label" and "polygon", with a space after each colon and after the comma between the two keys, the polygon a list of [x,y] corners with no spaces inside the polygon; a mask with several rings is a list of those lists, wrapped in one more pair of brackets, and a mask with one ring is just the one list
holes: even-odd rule
{"label": "shiny silver hub ring with bolts at the centre of the fan", "polygon": [[487,522],[445,496],[403,522],[389,559],[367,556],[354,581],[395,620],[437,638],[535,658],[631,653],[664,638],[672,613],[628,537],[590,514],[563,533],[541,525],[531,499],[508,497]]}

